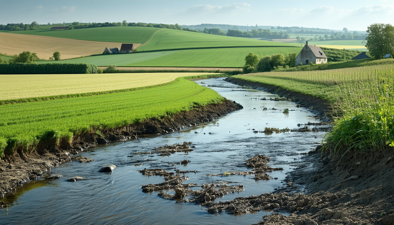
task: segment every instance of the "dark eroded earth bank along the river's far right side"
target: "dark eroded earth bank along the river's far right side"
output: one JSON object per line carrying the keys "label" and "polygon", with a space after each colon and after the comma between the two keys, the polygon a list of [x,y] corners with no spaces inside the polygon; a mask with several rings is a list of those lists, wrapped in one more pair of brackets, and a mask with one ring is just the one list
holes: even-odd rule
{"label": "dark eroded earth bank along the river's far right side", "polygon": [[330,110],[331,104],[327,100],[319,99],[317,97],[313,97],[311,95],[305,95],[303,93],[299,93],[295,91],[288,91],[279,86],[262,84],[258,82],[251,82],[251,81],[237,79],[234,77],[226,78],[225,81],[240,86],[253,87],[258,90],[262,90],[275,95],[286,97],[287,99],[291,99],[293,102],[300,104],[301,107],[309,108],[313,113],[331,120],[331,118],[327,115],[327,113]]}

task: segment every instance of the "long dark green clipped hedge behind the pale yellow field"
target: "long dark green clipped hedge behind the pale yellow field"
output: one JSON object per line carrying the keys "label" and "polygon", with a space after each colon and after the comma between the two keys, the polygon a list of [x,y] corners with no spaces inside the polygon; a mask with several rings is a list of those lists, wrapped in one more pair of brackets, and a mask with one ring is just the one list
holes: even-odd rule
{"label": "long dark green clipped hedge behind the pale yellow field", "polygon": [[0,64],[0,74],[82,74],[97,73],[97,66],[88,63],[12,63]]}

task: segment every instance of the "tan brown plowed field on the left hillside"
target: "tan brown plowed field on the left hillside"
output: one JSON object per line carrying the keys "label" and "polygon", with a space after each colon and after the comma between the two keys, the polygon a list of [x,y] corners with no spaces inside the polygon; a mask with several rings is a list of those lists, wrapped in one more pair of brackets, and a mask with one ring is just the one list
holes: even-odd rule
{"label": "tan brown plowed field on the left hillside", "polygon": [[[38,58],[48,60],[54,52],[60,52],[61,59],[102,54],[105,47],[121,48],[122,43],[84,41],[76,39],[44,37],[17,33],[0,32],[0,53],[14,55],[23,51],[37,53]],[[141,44],[134,43],[134,48]]]}

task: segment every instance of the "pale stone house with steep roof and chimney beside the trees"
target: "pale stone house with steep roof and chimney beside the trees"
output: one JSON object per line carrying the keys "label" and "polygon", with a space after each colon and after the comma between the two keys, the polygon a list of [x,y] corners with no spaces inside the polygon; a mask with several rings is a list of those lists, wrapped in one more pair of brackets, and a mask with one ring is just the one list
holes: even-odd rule
{"label": "pale stone house with steep roof and chimney beside the trees", "polygon": [[316,45],[308,45],[308,41],[302,48],[301,52],[296,58],[296,66],[308,65],[309,63],[322,64],[327,63],[327,56],[325,56],[323,50]]}

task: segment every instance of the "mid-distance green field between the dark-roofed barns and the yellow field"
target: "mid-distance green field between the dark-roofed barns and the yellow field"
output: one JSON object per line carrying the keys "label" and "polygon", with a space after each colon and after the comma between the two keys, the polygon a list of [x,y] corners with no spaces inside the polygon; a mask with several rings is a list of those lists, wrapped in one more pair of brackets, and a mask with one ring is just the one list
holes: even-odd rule
{"label": "mid-distance green field between the dark-roofed barns and the yellow field", "polygon": [[[301,47],[264,47],[264,48],[211,48],[165,52],[139,52],[90,56],[64,63],[93,63],[97,66],[136,66],[136,67],[242,67],[245,56],[253,52],[260,57],[273,54],[299,53]],[[37,63],[56,63],[56,61],[37,61]]]}

